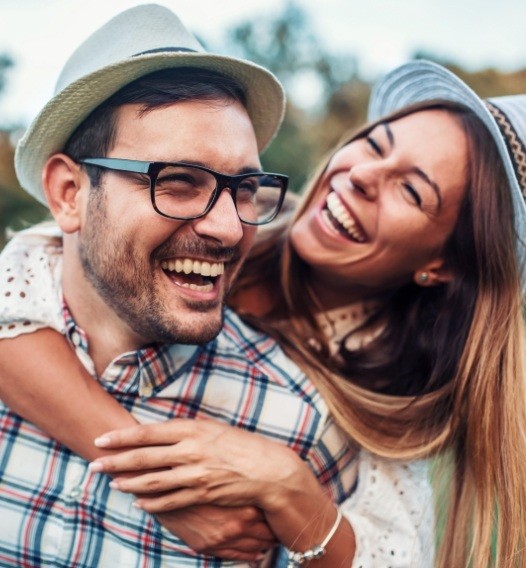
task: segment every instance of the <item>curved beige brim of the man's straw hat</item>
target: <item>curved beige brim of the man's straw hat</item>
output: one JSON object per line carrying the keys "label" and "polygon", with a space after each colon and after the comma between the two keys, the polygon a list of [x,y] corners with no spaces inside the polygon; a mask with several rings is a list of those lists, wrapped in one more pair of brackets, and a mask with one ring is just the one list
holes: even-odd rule
{"label": "curved beige brim of the man's straw hat", "polygon": [[236,79],[245,89],[247,112],[260,152],[268,147],[283,120],[285,94],[272,73],[248,61],[208,53],[154,53],[103,67],[71,83],[38,114],[18,143],[15,168],[20,184],[47,206],[42,170],[60,152],[89,114],[128,83],[160,69],[196,67]]}

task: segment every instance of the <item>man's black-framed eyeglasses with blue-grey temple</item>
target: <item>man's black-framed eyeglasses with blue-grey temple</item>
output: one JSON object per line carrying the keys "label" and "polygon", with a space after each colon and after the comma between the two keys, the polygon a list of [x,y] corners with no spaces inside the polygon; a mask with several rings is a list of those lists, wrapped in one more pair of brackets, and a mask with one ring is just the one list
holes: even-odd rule
{"label": "man's black-framed eyeglasses with blue-grey temple", "polygon": [[231,191],[239,219],[248,225],[270,223],[279,213],[288,177],[254,172],[228,176],[181,162],[143,162],[121,158],[85,158],[80,164],[107,170],[146,174],[150,178],[150,197],[159,215],[188,221],[206,215],[221,192]]}

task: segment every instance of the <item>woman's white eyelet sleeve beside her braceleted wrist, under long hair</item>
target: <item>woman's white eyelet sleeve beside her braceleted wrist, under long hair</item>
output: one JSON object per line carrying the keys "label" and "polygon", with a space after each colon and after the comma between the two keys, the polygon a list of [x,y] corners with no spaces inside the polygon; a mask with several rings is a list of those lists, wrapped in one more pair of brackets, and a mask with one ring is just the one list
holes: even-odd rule
{"label": "woman's white eyelet sleeve beside her braceleted wrist, under long hair", "polygon": [[341,506],[356,537],[352,568],[432,568],[433,493],[428,462],[361,451],[358,486]]}

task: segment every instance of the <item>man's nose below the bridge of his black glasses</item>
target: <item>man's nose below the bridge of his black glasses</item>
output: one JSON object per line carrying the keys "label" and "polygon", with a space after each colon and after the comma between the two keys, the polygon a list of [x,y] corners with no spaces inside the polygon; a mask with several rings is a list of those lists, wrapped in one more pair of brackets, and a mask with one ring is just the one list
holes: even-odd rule
{"label": "man's nose below the bridge of his black glasses", "polygon": [[225,188],[219,195],[212,209],[194,221],[195,232],[216,240],[225,247],[236,246],[243,237],[243,224],[229,189]]}

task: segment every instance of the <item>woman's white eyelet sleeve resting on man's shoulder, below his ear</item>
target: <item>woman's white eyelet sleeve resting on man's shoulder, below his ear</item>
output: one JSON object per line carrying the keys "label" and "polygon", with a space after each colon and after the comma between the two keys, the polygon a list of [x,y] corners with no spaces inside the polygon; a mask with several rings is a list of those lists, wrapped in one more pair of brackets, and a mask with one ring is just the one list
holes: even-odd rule
{"label": "woman's white eyelet sleeve resting on man's shoulder, below his ear", "polygon": [[62,238],[56,225],[17,233],[0,254],[0,339],[44,327],[63,332]]}

